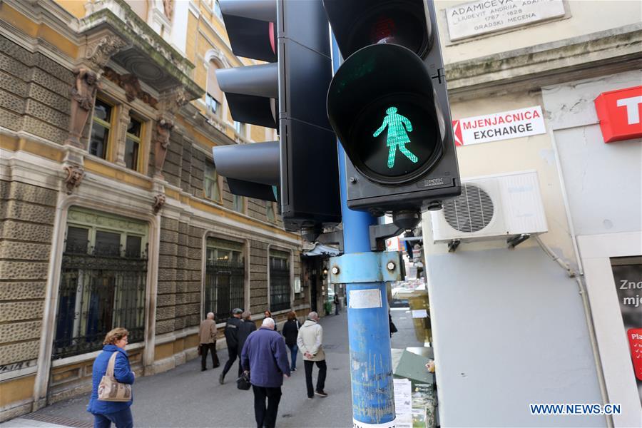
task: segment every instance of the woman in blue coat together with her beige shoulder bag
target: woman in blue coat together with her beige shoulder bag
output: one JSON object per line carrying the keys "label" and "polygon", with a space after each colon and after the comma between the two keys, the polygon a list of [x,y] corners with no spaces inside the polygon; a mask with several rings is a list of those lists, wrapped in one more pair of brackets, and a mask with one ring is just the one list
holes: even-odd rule
{"label": "woman in blue coat together with her beige shoulder bag", "polygon": [[94,428],[133,427],[131,416],[131,384],[136,375],[129,367],[125,350],[129,332],[118,327],[108,332],[103,340],[103,352],[93,362],[93,386],[87,412],[93,414]]}

